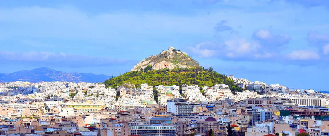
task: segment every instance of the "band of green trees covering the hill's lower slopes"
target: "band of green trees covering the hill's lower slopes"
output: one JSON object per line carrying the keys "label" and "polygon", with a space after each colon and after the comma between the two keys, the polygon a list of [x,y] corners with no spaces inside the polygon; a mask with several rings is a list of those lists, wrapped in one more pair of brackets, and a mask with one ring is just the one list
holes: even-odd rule
{"label": "band of green trees covering the hill's lower slopes", "polygon": [[240,88],[234,86],[233,80],[225,75],[217,73],[213,68],[204,69],[202,67],[151,70],[151,67],[148,66],[139,71],[126,72],[104,82],[107,87],[111,88],[116,88],[124,83],[135,84],[137,88],[143,83],[147,83],[150,86],[158,86],[165,83],[165,86],[177,85],[179,87],[184,84],[212,87],[215,84],[224,83],[229,85],[232,91],[241,91]]}

